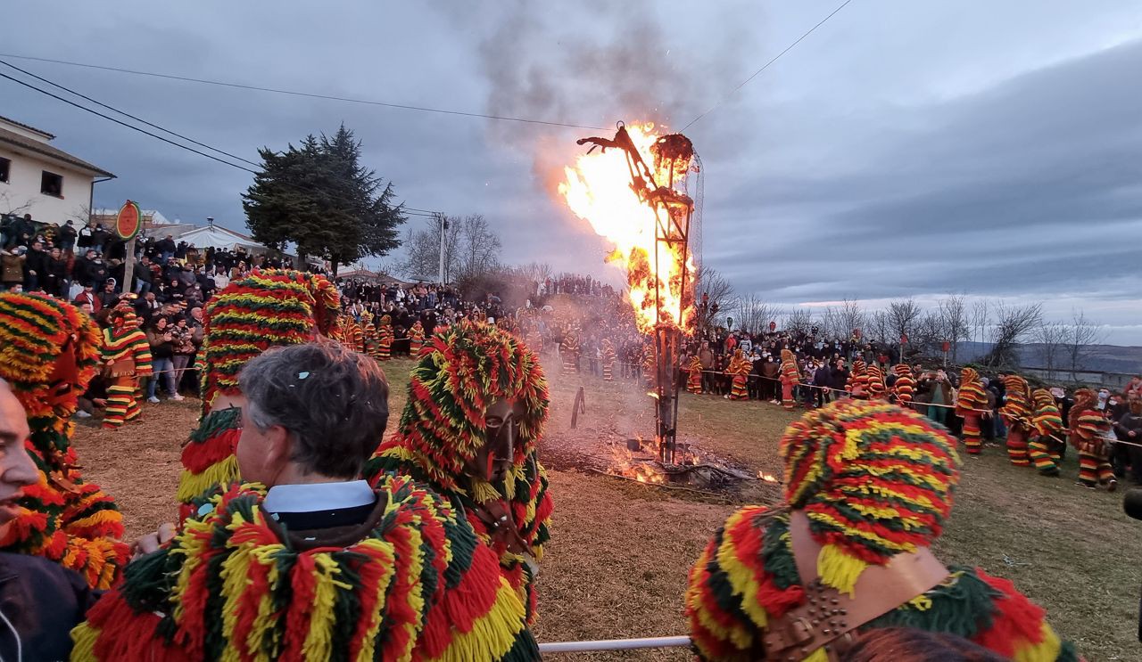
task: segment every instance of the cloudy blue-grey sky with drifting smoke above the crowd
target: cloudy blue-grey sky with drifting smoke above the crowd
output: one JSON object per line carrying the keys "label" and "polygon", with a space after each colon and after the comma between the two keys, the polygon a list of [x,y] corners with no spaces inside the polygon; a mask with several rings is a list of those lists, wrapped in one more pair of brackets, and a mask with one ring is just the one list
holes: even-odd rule
{"label": "cloudy blue-grey sky with drifting smoke above the crowd", "polygon": [[[18,3],[0,50],[460,111],[681,128],[839,0]],[[421,6],[425,5],[425,6]],[[709,5],[710,7],[703,7]],[[549,6],[549,7],[548,7]],[[409,205],[483,213],[505,259],[595,272],[554,200],[598,134],[11,60],[256,160],[344,121]],[[854,0],[687,135],[707,264],[782,305],[951,291],[1085,308],[1142,344],[1142,9],[1128,1]],[[8,72],[10,73],[10,72]],[[168,217],[243,227],[249,173],[0,84],[0,114]],[[412,223],[423,223],[413,218]]]}

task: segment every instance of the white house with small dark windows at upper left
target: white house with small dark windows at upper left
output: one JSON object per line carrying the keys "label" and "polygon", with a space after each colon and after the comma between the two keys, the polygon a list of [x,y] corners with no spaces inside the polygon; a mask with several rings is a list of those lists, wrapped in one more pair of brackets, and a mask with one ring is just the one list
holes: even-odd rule
{"label": "white house with small dark windows at upper left", "polygon": [[0,116],[0,213],[87,223],[95,184],[114,175],[50,145],[51,134]]}

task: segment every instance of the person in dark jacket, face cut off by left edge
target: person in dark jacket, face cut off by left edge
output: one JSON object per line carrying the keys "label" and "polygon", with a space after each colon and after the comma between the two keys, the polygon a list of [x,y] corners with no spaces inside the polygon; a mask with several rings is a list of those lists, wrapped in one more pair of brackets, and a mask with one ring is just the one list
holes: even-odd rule
{"label": "person in dark jacket, face cut off by left edge", "polygon": [[[39,477],[24,447],[29,435],[24,407],[0,380],[0,538],[19,512],[24,487]],[[75,572],[43,557],[0,552],[0,659],[66,660],[69,632],[94,603]]]}

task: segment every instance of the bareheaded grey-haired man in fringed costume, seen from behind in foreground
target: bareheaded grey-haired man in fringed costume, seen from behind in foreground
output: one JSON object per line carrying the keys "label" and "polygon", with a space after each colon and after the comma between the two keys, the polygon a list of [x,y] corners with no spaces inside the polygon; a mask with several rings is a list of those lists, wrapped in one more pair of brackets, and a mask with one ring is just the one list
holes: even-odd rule
{"label": "bareheaded grey-haired man in fringed costume, seen from behind in foreground", "polygon": [[[131,562],[72,630],[71,659],[539,660],[463,511],[408,476],[360,479],[388,419],[376,363],[335,344],[278,352],[289,360],[255,360],[241,377],[238,455],[259,482],[214,495]],[[315,410],[336,413],[305,415]]]}

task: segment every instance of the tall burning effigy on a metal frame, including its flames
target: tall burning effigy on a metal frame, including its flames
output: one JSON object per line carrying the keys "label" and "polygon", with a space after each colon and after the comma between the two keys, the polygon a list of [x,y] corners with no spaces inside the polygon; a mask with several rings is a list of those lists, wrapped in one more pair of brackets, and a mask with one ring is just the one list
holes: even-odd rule
{"label": "tall burning effigy on a metal frame, including its flames", "polygon": [[[638,331],[654,345],[656,439],[664,462],[674,462],[679,337],[693,333],[690,220],[685,193],[694,161],[681,134],[658,136],[653,124],[619,124],[613,139],[584,138],[593,147],[566,168],[560,193],[571,210],[616,244],[608,261],[626,267]],[[596,154],[596,148],[601,148]]]}

